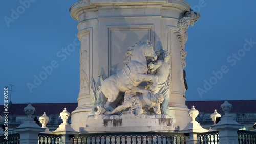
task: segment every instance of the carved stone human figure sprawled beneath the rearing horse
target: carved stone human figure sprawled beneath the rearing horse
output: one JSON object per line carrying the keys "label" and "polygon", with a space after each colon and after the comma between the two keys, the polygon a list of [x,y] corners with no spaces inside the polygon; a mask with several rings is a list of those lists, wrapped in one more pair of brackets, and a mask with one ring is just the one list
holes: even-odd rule
{"label": "carved stone human figure sprawled beneath the rearing horse", "polygon": [[141,92],[142,94],[136,95],[136,92],[132,90],[126,91],[124,103],[105,114],[115,114],[127,108],[130,108],[131,114],[143,114],[145,109],[151,108],[153,108],[154,114],[161,114],[160,104],[164,100],[163,95],[161,93],[152,94],[149,90],[143,90]]}

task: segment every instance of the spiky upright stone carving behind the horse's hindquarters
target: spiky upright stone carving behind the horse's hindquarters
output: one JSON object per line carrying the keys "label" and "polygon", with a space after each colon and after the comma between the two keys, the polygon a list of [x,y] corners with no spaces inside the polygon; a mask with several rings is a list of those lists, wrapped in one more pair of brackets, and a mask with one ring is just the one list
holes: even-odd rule
{"label": "spiky upright stone carving behind the horse's hindquarters", "polygon": [[102,88],[101,88],[102,81],[103,81],[102,76],[99,76],[97,83],[94,80],[94,78],[92,77],[90,90],[91,90],[91,99],[93,101],[93,104],[100,105],[100,106],[104,107],[107,99],[102,92]]}

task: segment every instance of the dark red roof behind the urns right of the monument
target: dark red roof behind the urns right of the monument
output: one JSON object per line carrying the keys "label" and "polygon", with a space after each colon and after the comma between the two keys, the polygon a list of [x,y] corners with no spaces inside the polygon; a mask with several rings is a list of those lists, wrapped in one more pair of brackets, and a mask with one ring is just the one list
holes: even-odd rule
{"label": "dark red roof behind the urns right of the monument", "polygon": [[[230,112],[233,113],[256,113],[256,100],[228,100],[233,108]],[[221,104],[224,101],[186,101],[187,107],[190,109],[192,106],[199,112],[213,113],[216,109],[218,113],[223,113]]]}

